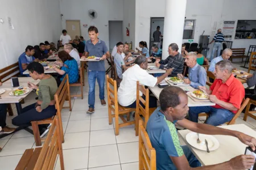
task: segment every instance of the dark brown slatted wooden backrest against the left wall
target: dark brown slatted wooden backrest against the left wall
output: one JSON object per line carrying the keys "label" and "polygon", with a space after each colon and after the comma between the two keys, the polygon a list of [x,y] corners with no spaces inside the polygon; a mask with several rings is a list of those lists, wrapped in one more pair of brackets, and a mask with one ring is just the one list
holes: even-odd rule
{"label": "dark brown slatted wooden backrest against the left wall", "polygon": [[0,70],[0,80],[3,83],[9,80],[11,77],[18,76],[19,74],[19,62],[16,62]]}

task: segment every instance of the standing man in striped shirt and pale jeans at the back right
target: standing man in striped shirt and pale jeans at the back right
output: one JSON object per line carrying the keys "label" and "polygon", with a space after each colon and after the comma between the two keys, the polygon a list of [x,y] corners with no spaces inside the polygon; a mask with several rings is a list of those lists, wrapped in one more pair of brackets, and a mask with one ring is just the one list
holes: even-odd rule
{"label": "standing man in striped shirt and pale jeans at the back right", "polygon": [[221,29],[218,29],[216,35],[214,36],[213,40],[210,41],[209,44],[212,44],[214,42],[213,48],[212,48],[212,54],[210,56],[210,61],[212,61],[214,57],[214,53],[217,50],[217,56],[220,56],[220,51],[221,51],[221,42],[224,41],[224,35],[221,33]]}

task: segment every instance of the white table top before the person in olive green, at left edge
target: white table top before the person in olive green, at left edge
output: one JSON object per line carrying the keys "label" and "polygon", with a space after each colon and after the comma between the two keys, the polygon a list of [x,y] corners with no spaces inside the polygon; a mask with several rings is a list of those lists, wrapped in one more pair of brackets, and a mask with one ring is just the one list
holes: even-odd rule
{"label": "white table top before the person in olive green, at left edge", "polygon": [[[34,80],[31,77],[21,77],[18,78],[19,79],[19,86],[26,86],[27,87],[27,83],[31,82],[34,84],[38,84],[40,82],[40,80]],[[22,100],[23,98],[25,98],[28,94],[30,94],[30,92],[32,92],[32,89],[29,88],[30,92],[28,92],[28,94],[26,95],[22,95],[22,96],[10,96],[9,93],[17,87],[12,87],[11,86],[11,79],[7,80],[6,82],[3,83],[2,86],[0,86],[0,89],[4,89],[6,90],[5,93],[1,94],[1,99],[0,99],[0,104],[3,103],[19,103],[20,100]]]}

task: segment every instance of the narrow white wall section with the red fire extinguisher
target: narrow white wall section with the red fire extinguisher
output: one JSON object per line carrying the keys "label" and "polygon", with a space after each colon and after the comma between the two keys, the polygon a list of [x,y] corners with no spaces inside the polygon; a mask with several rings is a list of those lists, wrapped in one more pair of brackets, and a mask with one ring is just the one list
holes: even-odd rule
{"label": "narrow white wall section with the red fire extinguisher", "polygon": [[[123,0],[123,42],[133,42],[133,49],[135,49],[135,5],[136,0]],[[126,36],[126,27],[130,30],[130,36]]]}

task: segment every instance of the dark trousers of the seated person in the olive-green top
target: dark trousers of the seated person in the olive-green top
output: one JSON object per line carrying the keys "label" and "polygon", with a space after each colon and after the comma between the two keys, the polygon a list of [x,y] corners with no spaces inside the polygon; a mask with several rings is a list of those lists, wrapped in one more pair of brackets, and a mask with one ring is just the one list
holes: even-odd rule
{"label": "dark trousers of the seated person in the olive-green top", "polygon": [[[31,126],[31,121],[39,121],[45,118],[50,118],[56,114],[55,105],[49,105],[43,109],[42,112],[38,112],[35,109],[35,104],[28,105],[22,109],[22,113],[13,118],[13,125],[22,126],[23,128]],[[46,125],[39,125],[39,130],[46,127]]]}

